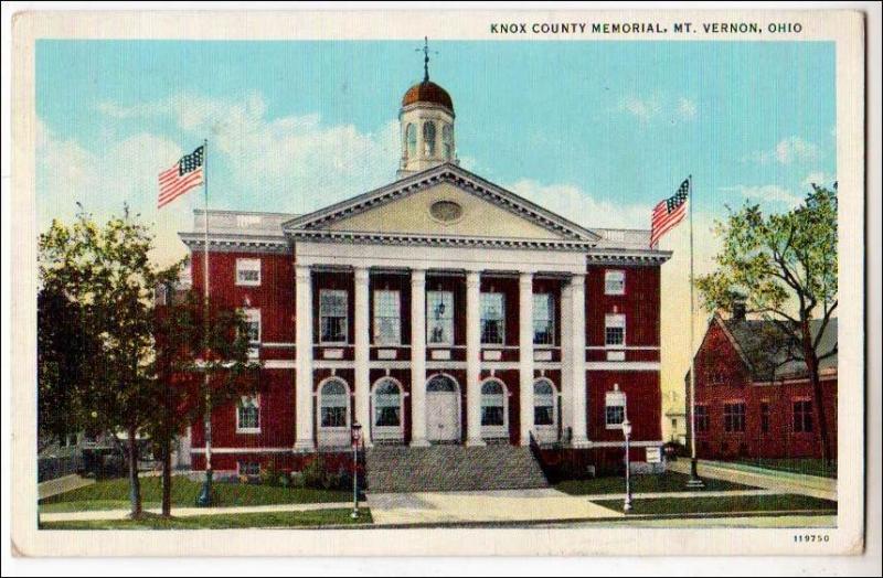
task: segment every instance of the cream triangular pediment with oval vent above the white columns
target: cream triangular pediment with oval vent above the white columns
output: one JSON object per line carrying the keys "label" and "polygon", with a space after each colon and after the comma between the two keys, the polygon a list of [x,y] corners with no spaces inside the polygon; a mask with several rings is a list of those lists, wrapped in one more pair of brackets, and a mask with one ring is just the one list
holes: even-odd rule
{"label": "cream triangular pediment with oval vent above the white columns", "polygon": [[453,164],[294,218],[286,231],[594,242],[595,233]]}

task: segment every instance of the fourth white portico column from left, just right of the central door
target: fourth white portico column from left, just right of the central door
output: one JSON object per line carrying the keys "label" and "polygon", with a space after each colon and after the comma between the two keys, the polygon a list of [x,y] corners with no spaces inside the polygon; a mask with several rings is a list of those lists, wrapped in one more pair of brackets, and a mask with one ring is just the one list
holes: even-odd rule
{"label": "fourth white portico column from left, just right of the central door", "polygon": [[466,445],[483,446],[481,439],[481,276],[466,274]]}

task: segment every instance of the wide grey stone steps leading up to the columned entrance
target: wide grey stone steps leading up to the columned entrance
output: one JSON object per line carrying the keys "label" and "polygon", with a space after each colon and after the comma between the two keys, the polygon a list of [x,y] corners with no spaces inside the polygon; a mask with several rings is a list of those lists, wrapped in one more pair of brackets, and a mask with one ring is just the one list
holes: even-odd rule
{"label": "wide grey stone steps leading up to the columned entrance", "polygon": [[375,447],[366,473],[376,493],[549,488],[530,449],[518,446]]}

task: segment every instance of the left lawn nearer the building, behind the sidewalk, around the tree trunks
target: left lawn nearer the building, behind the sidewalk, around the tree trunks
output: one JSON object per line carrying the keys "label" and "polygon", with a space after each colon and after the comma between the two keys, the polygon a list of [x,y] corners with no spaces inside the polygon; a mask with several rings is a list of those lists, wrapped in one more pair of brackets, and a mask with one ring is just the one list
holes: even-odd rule
{"label": "left lawn nearer the building, behind the sidewalk, around the tree trunks", "polygon": [[[348,491],[312,490],[308,488],[276,488],[272,485],[215,482],[214,493],[220,506],[265,504],[315,504],[347,502]],[[202,489],[184,475],[172,479],[172,507],[193,506]],[[162,481],[159,477],[141,478],[141,500],[145,507],[156,507],[162,500]],[[128,479],[102,480],[40,502],[40,512],[81,512],[88,510],[119,510],[129,507]]]}

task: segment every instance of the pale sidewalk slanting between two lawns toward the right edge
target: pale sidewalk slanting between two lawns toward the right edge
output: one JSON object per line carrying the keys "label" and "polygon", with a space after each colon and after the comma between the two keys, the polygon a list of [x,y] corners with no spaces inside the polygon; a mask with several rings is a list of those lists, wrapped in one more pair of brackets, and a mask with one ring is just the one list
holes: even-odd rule
{"label": "pale sidewalk slanting between two lawns toward the right edge", "polygon": [[[689,460],[669,462],[668,467],[671,471],[690,473]],[[837,480],[830,478],[708,460],[699,460],[699,475],[765,488],[780,494],[802,494],[837,501]]]}

